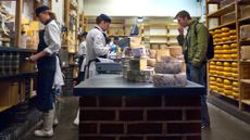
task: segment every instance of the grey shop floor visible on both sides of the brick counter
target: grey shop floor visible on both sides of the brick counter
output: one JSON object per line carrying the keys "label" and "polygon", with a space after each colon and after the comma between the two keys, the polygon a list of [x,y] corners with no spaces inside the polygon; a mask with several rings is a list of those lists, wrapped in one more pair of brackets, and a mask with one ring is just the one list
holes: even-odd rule
{"label": "grey shop floor visible on both sides of the brick counter", "polygon": [[[40,139],[28,135],[23,140],[77,140],[78,129],[72,122],[77,111],[76,98],[63,98],[60,105],[60,125],[54,137]],[[220,109],[209,104],[211,130],[202,131],[202,140],[250,140],[250,125],[245,124]]]}

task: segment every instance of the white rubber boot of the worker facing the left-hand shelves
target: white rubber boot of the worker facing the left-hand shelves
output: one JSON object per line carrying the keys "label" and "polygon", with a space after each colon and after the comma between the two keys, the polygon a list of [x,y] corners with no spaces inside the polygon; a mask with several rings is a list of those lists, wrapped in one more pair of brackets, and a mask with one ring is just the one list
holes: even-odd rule
{"label": "white rubber boot of the worker facing the left-hand shelves", "polygon": [[54,109],[43,114],[43,126],[40,130],[35,130],[36,137],[49,138],[53,136]]}

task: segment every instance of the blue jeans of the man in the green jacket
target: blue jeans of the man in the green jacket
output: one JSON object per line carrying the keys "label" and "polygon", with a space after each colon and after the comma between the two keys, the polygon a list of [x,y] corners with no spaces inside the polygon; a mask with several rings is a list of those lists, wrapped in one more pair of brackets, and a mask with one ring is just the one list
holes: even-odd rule
{"label": "blue jeans of the man in the green jacket", "polygon": [[[199,85],[207,87],[207,66],[205,63],[202,64],[199,68],[193,67],[192,64],[187,63],[187,79]],[[205,94],[201,96],[201,125],[210,126],[210,116],[207,104],[207,90]]]}

